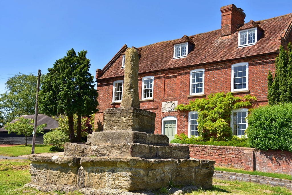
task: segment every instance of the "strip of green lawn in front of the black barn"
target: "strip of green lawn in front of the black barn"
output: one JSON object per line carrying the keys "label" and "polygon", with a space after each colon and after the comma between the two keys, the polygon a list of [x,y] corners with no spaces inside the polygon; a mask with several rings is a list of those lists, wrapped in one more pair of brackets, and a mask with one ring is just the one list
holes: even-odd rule
{"label": "strip of green lawn in front of the black barn", "polygon": [[[46,153],[51,152],[49,148],[52,146],[38,144],[35,145],[34,153]],[[0,156],[20,156],[30,154],[32,152],[32,145],[18,145],[18,146],[8,146],[8,147],[0,147]]]}

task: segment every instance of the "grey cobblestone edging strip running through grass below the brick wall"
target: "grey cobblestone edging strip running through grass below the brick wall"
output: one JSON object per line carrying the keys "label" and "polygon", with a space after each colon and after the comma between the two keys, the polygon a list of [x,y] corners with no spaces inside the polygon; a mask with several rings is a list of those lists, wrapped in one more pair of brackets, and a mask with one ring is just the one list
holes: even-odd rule
{"label": "grey cobblestone edging strip running through grass below the brick wall", "polygon": [[249,175],[249,174],[227,172],[227,171],[214,171],[213,176],[219,177],[219,178],[231,179],[231,180],[239,180],[239,181],[244,181],[244,182],[254,182],[254,183],[260,183],[260,184],[269,184],[273,186],[292,188],[291,180],[265,177],[265,176],[260,176],[260,175]]}

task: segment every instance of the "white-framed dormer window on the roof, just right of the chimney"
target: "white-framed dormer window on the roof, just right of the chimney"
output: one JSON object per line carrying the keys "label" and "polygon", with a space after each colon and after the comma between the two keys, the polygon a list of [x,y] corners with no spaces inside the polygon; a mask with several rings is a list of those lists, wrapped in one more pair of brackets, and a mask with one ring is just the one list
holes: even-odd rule
{"label": "white-framed dormer window on the roof, just right of the chimney", "polygon": [[257,28],[241,30],[238,32],[238,46],[254,45],[257,42]]}

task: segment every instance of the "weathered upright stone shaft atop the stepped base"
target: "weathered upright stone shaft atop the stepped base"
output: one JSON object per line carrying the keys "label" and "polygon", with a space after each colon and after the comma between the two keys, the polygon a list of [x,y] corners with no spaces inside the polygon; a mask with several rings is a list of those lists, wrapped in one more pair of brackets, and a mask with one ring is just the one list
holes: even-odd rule
{"label": "weathered upright stone shaft atop the stepped base", "polygon": [[126,49],[124,92],[121,106],[124,108],[140,108],[138,89],[139,57],[134,48]]}

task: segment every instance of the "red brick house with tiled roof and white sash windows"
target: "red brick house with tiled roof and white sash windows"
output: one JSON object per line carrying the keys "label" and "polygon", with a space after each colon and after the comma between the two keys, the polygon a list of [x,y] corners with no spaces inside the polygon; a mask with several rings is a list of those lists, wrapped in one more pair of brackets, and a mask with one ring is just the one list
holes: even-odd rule
{"label": "red brick house with tiled roof and white sash windows", "polygon": [[[156,113],[155,133],[197,135],[196,112],[177,112],[175,106],[211,93],[232,92],[257,97],[253,106],[267,104],[267,73],[274,72],[280,45],[292,42],[292,13],[244,23],[245,13],[223,6],[221,29],[184,35],[135,48],[139,54],[140,108]],[[100,111],[95,124],[102,130],[103,111],[120,105],[124,79],[124,45],[96,70]],[[241,136],[248,124],[247,109],[234,110],[231,127]]]}

